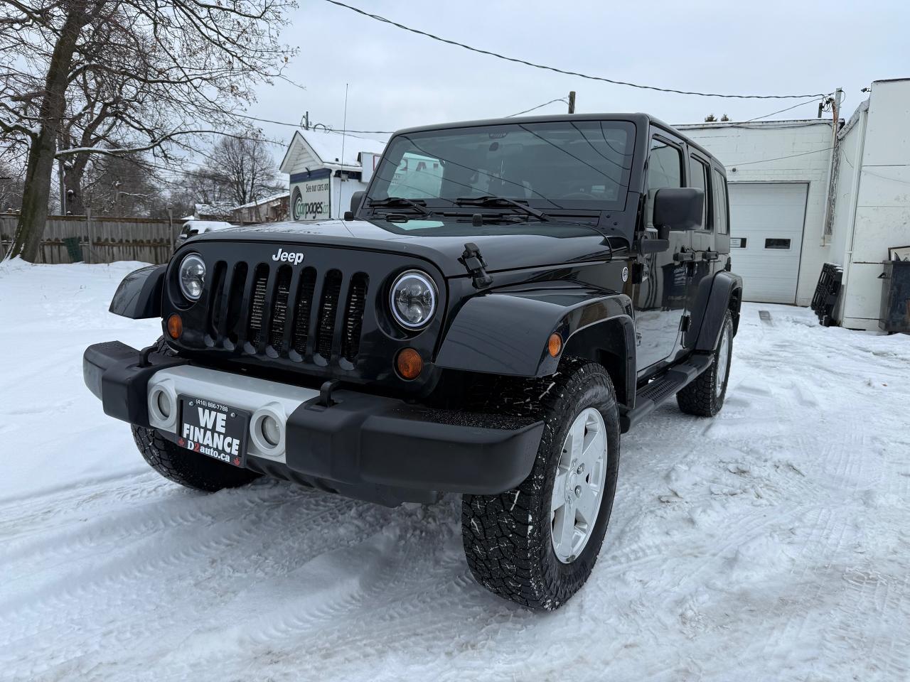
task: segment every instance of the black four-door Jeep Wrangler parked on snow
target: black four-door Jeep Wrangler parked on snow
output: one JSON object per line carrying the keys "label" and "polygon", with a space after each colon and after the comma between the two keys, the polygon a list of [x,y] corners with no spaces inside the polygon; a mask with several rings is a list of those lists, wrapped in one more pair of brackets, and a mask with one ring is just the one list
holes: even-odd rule
{"label": "black four-door Jeep Wrangler parked on snow", "polygon": [[742,279],[723,165],[642,114],[393,135],[344,220],[208,233],[127,276],[162,318],[86,385],[162,476],[394,506],[462,495],[471,572],[561,606],[610,519],[620,433],[723,406]]}

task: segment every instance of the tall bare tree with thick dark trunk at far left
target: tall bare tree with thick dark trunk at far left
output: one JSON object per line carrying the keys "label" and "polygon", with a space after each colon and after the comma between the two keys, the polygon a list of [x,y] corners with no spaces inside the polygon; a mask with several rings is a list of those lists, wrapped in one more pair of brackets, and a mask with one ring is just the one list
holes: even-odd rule
{"label": "tall bare tree with thick dark trunk at far left", "polygon": [[278,31],[295,6],[3,0],[0,142],[27,147],[10,255],[35,258],[56,159],[81,187],[93,155],[148,151],[167,159],[194,135],[236,125],[254,85],[284,79],[292,50],[278,42]]}

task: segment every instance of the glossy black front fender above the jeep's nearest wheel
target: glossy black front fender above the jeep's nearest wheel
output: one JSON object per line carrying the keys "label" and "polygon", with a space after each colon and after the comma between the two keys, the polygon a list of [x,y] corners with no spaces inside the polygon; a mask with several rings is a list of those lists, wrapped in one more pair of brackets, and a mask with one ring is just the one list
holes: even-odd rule
{"label": "glossy black front fender above the jeep's nearest wheel", "polygon": [[547,376],[556,371],[547,342],[553,332],[563,348],[573,334],[612,318],[632,324],[629,296],[588,286],[500,289],[474,296],[452,321],[436,366],[508,376]]}

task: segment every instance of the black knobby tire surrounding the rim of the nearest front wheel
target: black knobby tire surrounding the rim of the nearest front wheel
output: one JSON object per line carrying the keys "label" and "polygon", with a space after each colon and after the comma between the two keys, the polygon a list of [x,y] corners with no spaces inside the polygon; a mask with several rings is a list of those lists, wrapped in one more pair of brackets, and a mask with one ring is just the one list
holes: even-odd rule
{"label": "black knobby tire surrounding the rim of the nearest front wheel", "polygon": [[[539,414],[541,444],[531,474],[518,487],[462,497],[461,539],[470,572],[481,585],[523,607],[554,610],[591,575],[610,520],[620,455],[616,395],[606,370],[582,358],[563,359],[555,375],[504,380],[500,387],[499,396],[487,394],[490,403],[511,406],[512,414]],[[564,564],[551,541],[553,481],[568,429],[587,407],[596,407],[606,426],[606,480],[591,537],[581,554]]]}

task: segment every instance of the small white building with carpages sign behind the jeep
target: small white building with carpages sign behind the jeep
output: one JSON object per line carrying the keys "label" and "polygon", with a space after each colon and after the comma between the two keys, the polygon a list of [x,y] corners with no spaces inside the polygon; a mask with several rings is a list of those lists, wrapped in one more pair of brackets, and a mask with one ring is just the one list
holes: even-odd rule
{"label": "small white building with carpages sign behind the jeep", "polygon": [[366,189],[386,143],[327,130],[300,130],[281,161],[290,191],[293,220],[339,218],[350,196]]}

